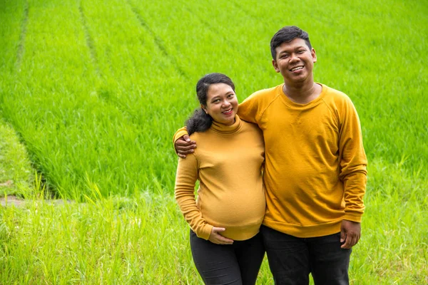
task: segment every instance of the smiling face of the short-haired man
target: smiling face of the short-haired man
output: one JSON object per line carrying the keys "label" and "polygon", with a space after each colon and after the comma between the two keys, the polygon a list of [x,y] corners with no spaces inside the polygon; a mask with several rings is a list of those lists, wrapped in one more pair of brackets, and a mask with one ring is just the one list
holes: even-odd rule
{"label": "smiling face of the short-haired man", "polygon": [[317,62],[313,48],[305,40],[295,38],[289,43],[282,43],[276,48],[276,58],[272,60],[275,71],[282,74],[285,83],[293,85],[312,79],[312,69]]}

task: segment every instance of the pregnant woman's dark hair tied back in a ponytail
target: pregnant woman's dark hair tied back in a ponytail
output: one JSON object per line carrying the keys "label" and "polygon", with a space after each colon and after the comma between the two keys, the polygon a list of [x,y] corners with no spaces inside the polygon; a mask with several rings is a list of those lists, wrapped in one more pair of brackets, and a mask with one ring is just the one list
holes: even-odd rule
{"label": "pregnant woman's dark hair tied back in a ponytail", "polygon": [[[209,73],[203,76],[203,78],[200,78],[196,84],[196,95],[198,95],[198,100],[201,105],[207,105],[208,89],[211,84],[217,83],[225,83],[235,91],[235,84],[233,84],[233,81],[228,76],[225,76],[223,73]],[[193,115],[186,120],[185,125],[188,134],[191,135],[195,132],[205,132],[205,130],[210,128],[212,123],[213,118],[205,113],[203,108],[198,108]]]}

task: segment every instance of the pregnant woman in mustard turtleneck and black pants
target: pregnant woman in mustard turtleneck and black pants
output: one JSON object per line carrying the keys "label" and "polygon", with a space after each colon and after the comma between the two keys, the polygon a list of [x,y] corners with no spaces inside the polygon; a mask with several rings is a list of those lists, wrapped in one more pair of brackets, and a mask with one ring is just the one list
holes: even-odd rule
{"label": "pregnant woman in mustard turtleneck and black pants", "polygon": [[175,178],[193,261],[205,284],[255,284],[265,255],[259,232],[266,204],[263,135],[236,115],[238,99],[228,76],[200,78],[196,93],[200,108],[186,127],[198,148],[179,158]]}

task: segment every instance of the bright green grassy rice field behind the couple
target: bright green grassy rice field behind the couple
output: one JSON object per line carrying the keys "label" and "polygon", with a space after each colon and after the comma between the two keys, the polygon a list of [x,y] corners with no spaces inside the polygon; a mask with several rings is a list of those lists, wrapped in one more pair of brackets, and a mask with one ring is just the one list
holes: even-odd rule
{"label": "bright green grassy rice field behind the couple", "polygon": [[427,15],[414,0],[0,0],[0,191],[27,201],[0,207],[0,284],[200,284],[172,135],[205,73],[240,101],[282,83],[269,42],[286,25],[360,115],[352,284],[427,284]]}

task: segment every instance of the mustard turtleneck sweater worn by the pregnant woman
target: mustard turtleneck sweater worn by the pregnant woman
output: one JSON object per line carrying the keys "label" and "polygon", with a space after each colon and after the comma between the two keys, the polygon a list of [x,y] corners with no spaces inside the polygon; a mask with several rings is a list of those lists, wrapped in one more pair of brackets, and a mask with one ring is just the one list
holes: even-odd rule
{"label": "mustard turtleneck sweater worn by the pregnant woman", "polygon": [[[231,126],[213,122],[190,138],[198,148],[179,158],[175,178],[175,199],[185,220],[203,239],[210,237],[213,227],[225,227],[222,235],[234,240],[255,236],[266,206],[260,129],[237,115]],[[195,200],[196,180],[200,186]]]}

